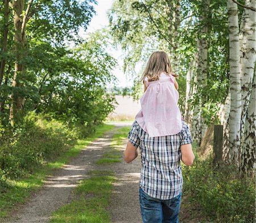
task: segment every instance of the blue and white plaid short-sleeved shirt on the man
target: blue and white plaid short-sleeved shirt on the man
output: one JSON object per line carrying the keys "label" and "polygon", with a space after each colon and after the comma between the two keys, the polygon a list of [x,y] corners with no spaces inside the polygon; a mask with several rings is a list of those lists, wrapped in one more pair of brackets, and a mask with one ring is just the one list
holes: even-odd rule
{"label": "blue and white plaid short-sleeved shirt on the man", "polygon": [[182,190],[180,146],[191,144],[187,123],[182,121],[180,133],[172,136],[149,137],[134,121],[128,134],[129,141],[141,150],[141,180],[139,186],[147,195],[169,200]]}

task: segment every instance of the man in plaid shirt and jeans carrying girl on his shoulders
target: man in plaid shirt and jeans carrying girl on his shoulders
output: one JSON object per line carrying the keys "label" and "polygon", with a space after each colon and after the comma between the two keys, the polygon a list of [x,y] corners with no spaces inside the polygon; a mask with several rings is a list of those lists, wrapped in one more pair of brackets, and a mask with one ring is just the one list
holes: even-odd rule
{"label": "man in plaid shirt and jeans carrying girl on his shoulders", "polygon": [[141,180],[139,201],[143,223],[179,223],[179,209],[183,178],[181,161],[190,166],[195,159],[188,125],[172,136],[149,137],[137,121],[128,134],[124,158],[133,161],[139,146],[141,152]]}

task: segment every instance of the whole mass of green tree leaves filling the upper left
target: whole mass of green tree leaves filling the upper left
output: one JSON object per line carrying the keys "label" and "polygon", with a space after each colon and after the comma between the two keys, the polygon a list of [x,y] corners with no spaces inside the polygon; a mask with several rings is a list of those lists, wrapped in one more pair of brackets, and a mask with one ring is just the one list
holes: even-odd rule
{"label": "whole mass of green tree leaves filling the upper left", "polygon": [[[18,125],[27,112],[35,110],[51,113],[53,118],[70,125],[80,123],[93,128],[113,110],[114,99],[106,93],[106,86],[115,81],[111,73],[116,61],[106,51],[108,39],[101,32],[93,33],[86,40],[78,35],[80,28],[86,30],[92,19],[95,3],[94,0],[33,2],[26,26],[26,47],[15,48],[10,37],[7,52],[2,52],[0,47],[0,60],[6,60],[0,85],[2,125],[9,125],[12,94],[25,101],[22,112],[14,109]],[[0,20],[2,16],[1,7]],[[11,20],[12,13],[8,28],[13,36]],[[0,30],[5,30],[2,23]],[[1,43],[2,35],[0,32]],[[16,77],[19,85],[11,87],[18,54],[22,55],[18,62],[24,71]]]}

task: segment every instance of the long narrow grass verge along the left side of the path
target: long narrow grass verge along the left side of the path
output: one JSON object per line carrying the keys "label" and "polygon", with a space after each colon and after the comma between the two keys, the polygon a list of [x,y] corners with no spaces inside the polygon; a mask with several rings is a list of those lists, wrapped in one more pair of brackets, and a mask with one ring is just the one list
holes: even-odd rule
{"label": "long narrow grass verge along the left side of the path", "polygon": [[[113,129],[113,125],[102,125],[97,128],[92,137],[77,140],[77,144],[67,152],[63,153],[56,161],[46,163],[43,167],[35,170],[33,174],[26,178],[16,180],[5,180],[5,186],[1,188],[0,184],[0,221],[1,218],[9,216],[11,208],[16,204],[24,203],[31,192],[43,185],[43,180],[51,174],[53,169],[60,168],[69,161],[70,158],[76,157],[85,146],[96,138],[102,136],[106,131]],[[52,148],[54,149],[54,148]],[[100,221],[99,221],[100,222]]]}

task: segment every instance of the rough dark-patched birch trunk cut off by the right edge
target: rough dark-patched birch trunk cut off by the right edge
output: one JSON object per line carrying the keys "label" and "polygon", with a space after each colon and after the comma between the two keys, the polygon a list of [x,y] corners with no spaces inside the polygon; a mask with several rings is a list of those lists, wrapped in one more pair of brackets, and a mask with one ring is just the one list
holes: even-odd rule
{"label": "rough dark-patched birch trunk cut off by the right edge", "polygon": [[[255,69],[256,75],[256,69]],[[249,174],[255,170],[255,134],[256,134],[256,85],[255,85],[255,76],[254,76],[253,86],[251,90],[250,103],[247,109],[247,116],[245,121],[245,133],[243,137],[243,144],[241,150],[241,166],[240,170]]]}

